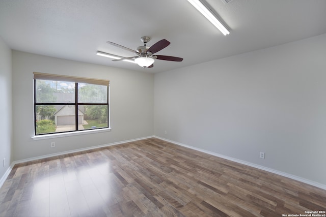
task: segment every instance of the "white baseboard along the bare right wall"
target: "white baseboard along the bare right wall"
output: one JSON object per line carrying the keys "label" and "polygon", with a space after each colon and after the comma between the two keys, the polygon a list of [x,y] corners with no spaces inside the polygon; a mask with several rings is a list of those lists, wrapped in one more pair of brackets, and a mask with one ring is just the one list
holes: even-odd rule
{"label": "white baseboard along the bare right wall", "polygon": [[242,161],[242,160],[239,160],[239,159],[230,158],[228,156],[224,156],[224,155],[219,154],[219,153],[215,153],[215,152],[207,151],[207,150],[204,150],[204,149],[201,149],[201,148],[196,148],[196,147],[193,147],[193,146],[185,145],[185,144],[182,144],[180,142],[172,141],[172,140],[165,139],[165,138],[162,138],[162,137],[158,137],[158,136],[154,136],[154,137],[157,138],[157,139],[167,141],[167,142],[171,142],[171,143],[176,144],[176,145],[180,145],[180,146],[191,148],[191,149],[194,149],[194,150],[197,150],[197,151],[200,151],[200,152],[208,153],[208,154],[211,154],[212,156],[216,156],[216,157],[219,157],[219,158],[230,160],[230,161],[233,161],[233,162],[236,162],[236,163],[239,163],[239,164],[244,164],[244,165],[254,167],[254,168],[257,168],[257,169],[261,169],[261,170],[264,170],[264,171],[267,171],[267,172],[275,173],[275,174],[278,174],[278,175],[281,175],[281,176],[284,176],[284,177],[287,177],[287,178],[294,179],[296,181],[301,181],[303,183],[313,185],[314,187],[326,190],[326,185],[325,184],[321,184],[321,183],[318,183],[318,182],[315,182],[315,181],[312,181],[312,180],[309,180],[309,179],[306,179],[306,178],[302,178],[302,177],[299,177],[299,176],[288,174],[288,173],[285,173],[285,172],[282,172],[282,171],[279,171],[279,170],[274,170],[274,169],[271,169],[271,168],[268,168],[268,167],[263,167],[263,166],[260,166],[258,164],[253,164],[253,163],[250,163],[250,162],[247,162],[247,161]]}

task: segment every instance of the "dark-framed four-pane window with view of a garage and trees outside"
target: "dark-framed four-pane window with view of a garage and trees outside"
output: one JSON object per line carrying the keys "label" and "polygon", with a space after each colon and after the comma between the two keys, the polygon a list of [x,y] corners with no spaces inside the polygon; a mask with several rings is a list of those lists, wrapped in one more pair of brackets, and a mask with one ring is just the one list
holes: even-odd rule
{"label": "dark-framed four-pane window with view of a garage and trees outside", "polygon": [[34,72],[35,135],[109,128],[109,81]]}

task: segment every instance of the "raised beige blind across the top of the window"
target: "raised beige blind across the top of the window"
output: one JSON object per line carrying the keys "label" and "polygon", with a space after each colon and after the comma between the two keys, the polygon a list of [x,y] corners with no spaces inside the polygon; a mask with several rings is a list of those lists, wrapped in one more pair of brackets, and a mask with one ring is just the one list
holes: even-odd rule
{"label": "raised beige blind across the top of the window", "polygon": [[33,72],[33,75],[34,75],[34,79],[40,79],[40,80],[69,81],[69,82],[88,83],[88,84],[96,84],[96,85],[104,85],[104,86],[108,86],[110,84],[110,80],[103,80],[103,79],[73,77],[67,75],[53,75],[53,74],[46,74],[40,72]]}

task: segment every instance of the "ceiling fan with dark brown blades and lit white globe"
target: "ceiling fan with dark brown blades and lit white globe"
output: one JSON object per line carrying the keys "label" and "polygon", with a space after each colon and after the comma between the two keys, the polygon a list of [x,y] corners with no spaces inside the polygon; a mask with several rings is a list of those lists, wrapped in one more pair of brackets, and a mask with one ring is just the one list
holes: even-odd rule
{"label": "ceiling fan with dark brown blades and lit white globe", "polygon": [[162,39],[162,40],[156,42],[155,44],[153,44],[152,46],[148,47],[148,46],[146,46],[146,44],[150,40],[151,40],[151,38],[148,36],[141,37],[141,41],[144,43],[144,46],[139,46],[136,50],[132,50],[132,49],[124,47],[122,45],[116,44],[114,42],[106,42],[106,43],[137,54],[137,56],[122,57],[119,59],[113,59],[113,61],[133,59],[139,66],[144,67],[144,68],[146,68],[146,67],[153,68],[155,59],[168,60],[168,61],[179,61],[179,62],[183,60],[183,58],[175,57],[175,56],[153,55],[154,53],[166,48],[170,44],[170,42],[166,39]]}

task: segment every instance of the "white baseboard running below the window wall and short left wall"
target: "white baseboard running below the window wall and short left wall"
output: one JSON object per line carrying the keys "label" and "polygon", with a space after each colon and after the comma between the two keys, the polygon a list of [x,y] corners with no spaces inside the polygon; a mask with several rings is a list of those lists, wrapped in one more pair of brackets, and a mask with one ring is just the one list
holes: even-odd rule
{"label": "white baseboard running below the window wall and short left wall", "polygon": [[148,139],[148,138],[153,138],[153,137],[154,136],[147,136],[147,137],[142,137],[142,138],[137,138],[137,139],[130,139],[130,140],[125,140],[125,141],[120,141],[120,142],[113,142],[113,143],[108,143],[108,144],[103,144],[103,145],[97,145],[97,146],[92,146],[92,147],[87,147],[87,148],[79,148],[79,149],[74,149],[74,150],[70,150],[70,151],[63,151],[63,152],[58,152],[58,153],[53,153],[53,154],[46,154],[44,156],[39,156],[39,157],[35,157],[35,158],[28,158],[28,159],[23,159],[23,160],[19,160],[19,161],[14,161],[14,162],[11,163],[10,167],[8,168],[8,170],[5,172],[5,174],[0,179],[0,188],[5,183],[5,181],[8,178],[8,176],[9,176],[12,168],[16,164],[25,163],[25,162],[29,162],[29,161],[40,160],[40,159],[44,159],[44,158],[57,157],[57,156],[61,156],[63,154],[75,153],[75,152],[79,152],[79,151],[92,150],[92,149],[95,149],[95,148],[102,148],[102,147],[107,147],[107,146],[112,146],[112,145],[119,145],[119,144],[126,143],[126,142],[134,142],[134,141],[138,141],[138,140],[142,140],[142,139]]}

